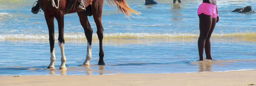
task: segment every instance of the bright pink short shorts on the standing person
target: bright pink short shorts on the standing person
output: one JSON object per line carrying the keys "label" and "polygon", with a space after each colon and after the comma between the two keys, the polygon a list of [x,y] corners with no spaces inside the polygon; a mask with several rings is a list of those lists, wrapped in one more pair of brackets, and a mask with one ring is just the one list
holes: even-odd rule
{"label": "bright pink short shorts on the standing person", "polygon": [[205,15],[210,15],[212,18],[217,17],[217,5],[202,3],[197,9],[197,15],[204,13]]}

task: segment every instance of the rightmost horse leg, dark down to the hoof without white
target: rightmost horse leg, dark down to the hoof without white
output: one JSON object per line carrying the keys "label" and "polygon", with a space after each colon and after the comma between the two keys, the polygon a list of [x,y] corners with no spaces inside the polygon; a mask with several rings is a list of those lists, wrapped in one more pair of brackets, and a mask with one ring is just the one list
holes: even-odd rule
{"label": "rightmost horse leg, dark down to the hoof without white", "polygon": [[100,41],[100,52],[99,52],[99,62],[98,65],[105,65],[103,57],[104,57],[104,52],[103,52],[103,47],[102,47],[102,40],[103,40],[103,27],[101,23],[101,15],[102,15],[102,6],[103,6],[103,1],[104,0],[93,0],[92,1],[92,15],[94,22],[96,23],[97,27],[97,35]]}

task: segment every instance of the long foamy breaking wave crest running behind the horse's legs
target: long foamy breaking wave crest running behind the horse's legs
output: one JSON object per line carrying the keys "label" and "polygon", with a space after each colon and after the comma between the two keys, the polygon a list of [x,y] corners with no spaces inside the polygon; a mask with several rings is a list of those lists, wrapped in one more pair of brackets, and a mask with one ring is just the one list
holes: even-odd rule
{"label": "long foamy breaking wave crest running behind the horse's legs", "polygon": [[[192,33],[174,33],[174,34],[158,34],[158,33],[107,33],[104,34],[106,39],[114,38],[197,38],[199,34]],[[256,38],[256,32],[238,32],[238,33],[223,33],[212,34],[212,37],[246,37]],[[93,39],[98,39],[96,33],[92,35]],[[49,39],[48,34],[0,34],[0,39]],[[58,34],[55,34],[55,39],[58,39]],[[64,39],[86,39],[84,33],[64,34]]]}

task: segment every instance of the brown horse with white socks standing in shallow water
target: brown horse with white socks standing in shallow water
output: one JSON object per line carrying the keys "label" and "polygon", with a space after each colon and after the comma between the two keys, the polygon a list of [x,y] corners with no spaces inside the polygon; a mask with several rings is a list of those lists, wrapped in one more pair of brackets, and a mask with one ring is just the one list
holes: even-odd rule
{"label": "brown horse with white socks standing in shallow water", "polygon": [[[99,44],[100,44],[100,52],[99,52],[99,62],[98,65],[105,65],[103,57],[103,47],[102,47],[102,39],[103,39],[103,27],[101,23],[101,15],[102,15],[102,6],[103,6],[103,0],[83,0],[84,6],[87,7],[91,4],[91,12],[94,19],[94,22],[96,23],[97,27],[97,35],[99,38]],[[88,3],[89,1],[89,3]],[[50,50],[51,50],[51,62],[50,65],[47,67],[48,69],[55,69],[54,67],[54,61],[55,61],[55,50],[54,50],[54,18],[56,18],[58,22],[58,29],[59,29],[59,37],[58,37],[58,43],[60,46],[61,51],[61,70],[67,70],[65,63],[66,63],[66,57],[64,54],[64,36],[63,36],[63,30],[64,30],[64,15],[65,11],[67,9],[69,0],[54,0],[54,3],[57,7],[52,6],[51,0],[38,0],[38,4],[40,5],[41,9],[44,11],[44,17],[48,26],[49,30],[49,41],[50,41]],[[91,3],[90,3],[91,2]],[[108,4],[116,4],[118,7],[118,10],[123,12],[124,15],[132,16],[132,13],[139,14],[140,12],[135,11],[131,9],[125,0],[108,0]],[[68,13],[75,13],[77,12],[79,16],[80,23],[82,27],[84,28],[84,34],[87,39],[87,54],[86,59],[83,63],[83,65],[89,66],[89,62],[92,58],[92,27],[88,21],[87,16],[85,16],[82,12],[79,12],[80,10],[77,10],[77,6],[73,5],[71,11]]]}

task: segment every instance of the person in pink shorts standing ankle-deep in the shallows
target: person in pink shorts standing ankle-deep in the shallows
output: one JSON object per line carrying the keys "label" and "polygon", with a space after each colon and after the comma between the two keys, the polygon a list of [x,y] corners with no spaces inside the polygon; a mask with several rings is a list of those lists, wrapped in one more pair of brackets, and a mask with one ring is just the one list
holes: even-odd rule
{"label": "person in pink shorts standing ankle-deep in the shallows", "polygon": [[204,60],[204,49],[206,59],[212,59],[210,37],[212,31],[219,21],[216,0],[203,0],[197,10],[199,17],[200,35],[198,38],[199,60]]}

